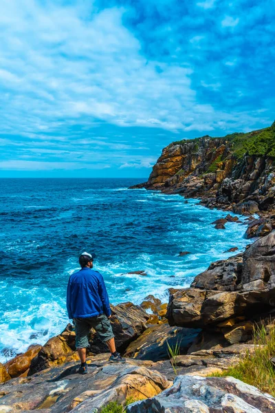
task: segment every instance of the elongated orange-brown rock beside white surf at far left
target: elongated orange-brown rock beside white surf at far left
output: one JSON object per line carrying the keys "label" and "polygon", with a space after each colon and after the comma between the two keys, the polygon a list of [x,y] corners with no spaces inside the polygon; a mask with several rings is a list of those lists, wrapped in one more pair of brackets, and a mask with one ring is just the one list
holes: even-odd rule
{"label": "elongated orange-brown rock beside white surf at far left", "polygon": [[8,363],[5,363],[5,368],[8,370],[10,377],[19,377],[21,374],[28,372],[32,359],[36,357],[41,348],[42,346],[39,344],[30,346],[25,353],[19,354],[14,359],[8,361]]}

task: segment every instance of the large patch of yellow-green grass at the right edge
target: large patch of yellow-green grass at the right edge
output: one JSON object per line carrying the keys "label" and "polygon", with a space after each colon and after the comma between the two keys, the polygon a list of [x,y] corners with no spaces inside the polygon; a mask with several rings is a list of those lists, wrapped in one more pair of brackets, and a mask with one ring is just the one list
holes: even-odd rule
{"label": "large patch of yellow-green grass at the right edge", "polygon": [[275,396],[275,368],[270,359],[275,356],[275,326],[267,331],[262,324],[254,329],[254,354],[245,354],[236,366],[213,377],[232,376]]}

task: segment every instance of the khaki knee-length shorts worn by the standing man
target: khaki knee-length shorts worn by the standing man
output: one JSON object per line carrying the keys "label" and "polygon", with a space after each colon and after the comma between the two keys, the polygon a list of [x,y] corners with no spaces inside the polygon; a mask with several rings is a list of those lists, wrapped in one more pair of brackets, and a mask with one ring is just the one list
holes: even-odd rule
{"label": "khaki knee-length shorts worn by the standing man", "polygon": [[111,323],[104,314],[96,317],[75,318],[74,325],[76,326],[76,348],[89,346],[88,335],[91,328],[96,330],[101,341],[109,341],[114,337]]}

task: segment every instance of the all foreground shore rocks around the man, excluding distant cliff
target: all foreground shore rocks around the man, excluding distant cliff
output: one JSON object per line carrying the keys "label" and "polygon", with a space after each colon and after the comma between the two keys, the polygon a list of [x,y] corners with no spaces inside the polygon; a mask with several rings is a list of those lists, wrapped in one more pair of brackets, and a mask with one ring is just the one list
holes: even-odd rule
{"label": "all foreground shore rocks around the man, excluding distant cliff", "polygon": [[[128,412],[250,412],[255,406],[258,412],[271,412],[272,396],[236,379],[208,376],[236,365],[247,352],[254,353],[253,327],[262,322],[267,330],[274,326],[274,297],[272,232],[244,253],[212,263],[190,288],[170,288],[167,309],[153,296],[142,306],[130,302],[111,306],[111,324],[118,349],[126,357],[124,365],[110,365],[107,347],[91,330],[85,381],[77,374],[71,324],[44,346],[31,346],[0,365],[0,412],[99,412],[109,402],[123,403],[129,397],[145,401],[129,405]],[[148,309],[153,314],[146,313]],[[180,343],[177,377],[167,342],[172,347]],[[207,388],[216,410],[196,410],[211,403],[194,388]],[[221,399],[232,410],[221,410]],[[158,406],[155,410],[152,403]],[[181,410],[182,405],[186,410]],[[243,410],[238,410],[240,406]]]}

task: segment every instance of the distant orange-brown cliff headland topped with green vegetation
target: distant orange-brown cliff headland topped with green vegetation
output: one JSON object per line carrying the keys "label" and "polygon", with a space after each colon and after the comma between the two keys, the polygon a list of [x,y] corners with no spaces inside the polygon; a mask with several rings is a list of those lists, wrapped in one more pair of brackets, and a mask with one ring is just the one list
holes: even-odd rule
{"label": "distant orange-brown cliff headland topped with green vegetation", "polygon": [[[248,134],[203,136],[164,148],[146,189],[202,198],[208,207],[270,211],[275,200],[275,123]],[[256,202],[256,204],[254,204]]]}

